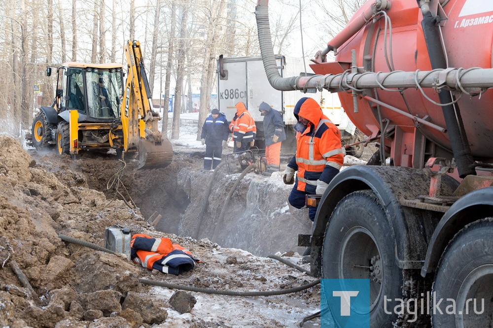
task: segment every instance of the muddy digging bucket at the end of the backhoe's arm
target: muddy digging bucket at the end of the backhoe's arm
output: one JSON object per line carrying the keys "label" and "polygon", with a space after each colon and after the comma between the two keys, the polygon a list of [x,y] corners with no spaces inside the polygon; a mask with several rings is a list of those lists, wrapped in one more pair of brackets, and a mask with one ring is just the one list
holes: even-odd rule
{"label": "muddy digging bucket at the end of the backhoe's arm", "polygon": [[145,139],[139,141],[139,165],[141,168],[166,167],[173,160],[173,146],[170,140],[154,143]]}

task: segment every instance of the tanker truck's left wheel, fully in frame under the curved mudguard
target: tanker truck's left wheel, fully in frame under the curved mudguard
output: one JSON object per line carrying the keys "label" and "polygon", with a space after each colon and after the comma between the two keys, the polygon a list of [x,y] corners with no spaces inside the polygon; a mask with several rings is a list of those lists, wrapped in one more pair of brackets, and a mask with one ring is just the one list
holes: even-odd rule
{"label": "tanker truck's left wheel, fully in frame under the curved mudguard", "polygon": [[[388,300],[402,298],[402,270],[394,248],[386,212],[372,191],[353,192],[337,204],[323,239],[322,278],[370,279],[372,328],[392,327],[397,320],[395,304]],[[334,316],[345,327],[341,318]]]}

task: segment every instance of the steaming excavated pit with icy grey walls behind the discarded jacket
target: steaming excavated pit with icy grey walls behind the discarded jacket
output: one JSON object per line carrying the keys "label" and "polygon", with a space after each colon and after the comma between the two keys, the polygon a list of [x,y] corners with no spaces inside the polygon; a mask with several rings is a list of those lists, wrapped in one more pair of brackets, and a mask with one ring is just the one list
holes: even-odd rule
{"label": "steaming excavated pit with icy grey walls behind the discarded jacket", "polygon": [[[208,238],[222,247],[239,248],[258,256],[303,252],[303,248],[297,247],[298,234],[310,233],[312,224],[305,211],[288,205],[291,186],[282,183],[281,172],[271,177],[246,174],[226,202],[240,177],[240,173],[229,173],[226,165],[214,177],[210,193],[213,172],[200,169],[202,159],[175,155],[166,168],[151,170],[136,170],[133,160],[126,165],[121,176],[125,188],[120,187],[119,191],[127,195],[127,201],[135,202],[144,218],[154,212],[162,216],[157,230],[182,237]],[[115,197],[114,190],[106,189],[108,180],[122,166],[114,157],[83,157],[70,166],[86,175],[90,188],[104,191],[108,200]],[[226,208],[221,219],[223,207]]]}

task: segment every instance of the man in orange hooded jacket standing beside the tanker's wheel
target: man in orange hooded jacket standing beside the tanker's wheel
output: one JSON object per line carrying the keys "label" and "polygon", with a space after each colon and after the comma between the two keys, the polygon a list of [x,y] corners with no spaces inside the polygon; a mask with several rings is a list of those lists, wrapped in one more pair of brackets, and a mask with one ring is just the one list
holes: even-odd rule
{"label": "man in orange hooded jacket standing beside the tanker's wheel", "polygon": [[[344,153],[341,132],[323,115],[315,99],[301,98],[294,107],[294,116],[298,120],[294,127],[296,155],[287,164],[282,178],[285,184],[294,183],[289,203],[304,208],[306,195],[323,195],[344,163]],[[316,213],[317,207],[309,208],[312,222]]]}

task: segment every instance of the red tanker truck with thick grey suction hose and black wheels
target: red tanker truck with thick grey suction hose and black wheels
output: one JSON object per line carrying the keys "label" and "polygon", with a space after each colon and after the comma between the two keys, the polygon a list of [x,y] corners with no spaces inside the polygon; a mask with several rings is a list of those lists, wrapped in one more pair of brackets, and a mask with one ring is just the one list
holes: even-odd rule
{"label": "red tanker truck with thick grey suction hose and black wheels", "polygon": [[493,1],[367,1],[317,52],[317,75],[291,78],[274,63],[267,0],[256,18],[273,87],[339,93],[379,143],[321,197],[312,273],[370,279],[371,327],[492,327]]}

